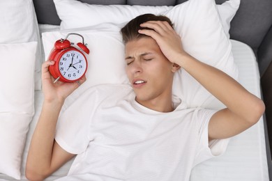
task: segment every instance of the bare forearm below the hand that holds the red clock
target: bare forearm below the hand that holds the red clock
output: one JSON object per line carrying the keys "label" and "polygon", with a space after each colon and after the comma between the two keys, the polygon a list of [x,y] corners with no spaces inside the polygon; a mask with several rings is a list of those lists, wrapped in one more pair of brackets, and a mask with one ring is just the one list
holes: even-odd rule
{"label": "bare forearm below the hand that holds the red clock", "polygon": [[27,169],[47,171],[52,160],[56,122],[63,102],[44,102],[40,118],[29,147]]}

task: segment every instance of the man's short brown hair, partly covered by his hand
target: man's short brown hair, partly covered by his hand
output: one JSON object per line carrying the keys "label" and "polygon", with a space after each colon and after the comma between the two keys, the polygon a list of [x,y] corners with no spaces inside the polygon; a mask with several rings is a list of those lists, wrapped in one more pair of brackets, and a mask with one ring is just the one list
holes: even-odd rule
{"label": "man's short brown hair, partly covered by his hand", "polygon": [[126,26],[123,26],[123,28],[121,29],[123,42],[126,44],[131,40],[137,40],[139,38],[146,37],[145,35],[138,33],[138,30],[148,29],[139,26],[140,24],[148,21],[165,21],[168,22],[170,26],[173,27],[171,20],[166,16],[153,14],[139,15],[134,19],[130,20],[130,22],[128,22],[128,24],[126,24]]}

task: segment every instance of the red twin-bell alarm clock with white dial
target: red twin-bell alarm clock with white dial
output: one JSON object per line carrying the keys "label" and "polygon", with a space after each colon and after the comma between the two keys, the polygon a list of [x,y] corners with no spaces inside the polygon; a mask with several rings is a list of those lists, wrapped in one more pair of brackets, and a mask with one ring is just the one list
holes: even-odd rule
{"label": "red twin-bell alarm clock with white dial", "polygon": [[[73,42],[67,40],[68,36],[76,35],[82,38],[82,42],[78,42],[76,47],[73,47]],[[88,63],[84,53],[89,54],[89,49],[84,44],[84,38],[78,33],[68,33],[66,38],[57,40],[54,44],[54,49],[50,53],[48,60],[55,61],[54,65],[48,68],[52,77],[56,81],[74,82],[81,79],[88,68]]]}

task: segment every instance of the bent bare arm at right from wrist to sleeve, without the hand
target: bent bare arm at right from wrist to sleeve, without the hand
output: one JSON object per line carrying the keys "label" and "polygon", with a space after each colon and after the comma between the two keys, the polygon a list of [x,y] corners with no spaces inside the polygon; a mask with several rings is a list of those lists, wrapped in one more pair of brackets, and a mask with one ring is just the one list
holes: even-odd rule
{"label": "bent bare arm at right from wrist to sleeve, without the hand", "polygon": [[[209,139],[225,139],[248,129],[264,113],[264,103],[224,72],[186,56],[183,68],[225,106],[209,122]],[[178,63],[179,64],[179,63]]]}

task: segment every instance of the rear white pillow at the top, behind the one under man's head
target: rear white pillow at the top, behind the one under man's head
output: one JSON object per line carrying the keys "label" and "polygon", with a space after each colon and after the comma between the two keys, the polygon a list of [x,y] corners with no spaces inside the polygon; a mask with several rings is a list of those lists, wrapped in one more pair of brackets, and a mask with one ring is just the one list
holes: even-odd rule
{"label": "rear white pillow at the top, behind the one under man's head", "polygon": [[[144,13],[161,14],[173,6],[91,5],[75,0],[54,0],[61,19],[61,29],[75,29],[110,22],[120,24]],[[225,33],[229,37],[229,23],[239,8],[240,0],[217,5]]]}

